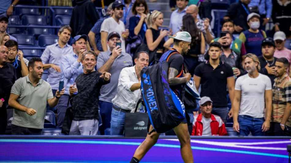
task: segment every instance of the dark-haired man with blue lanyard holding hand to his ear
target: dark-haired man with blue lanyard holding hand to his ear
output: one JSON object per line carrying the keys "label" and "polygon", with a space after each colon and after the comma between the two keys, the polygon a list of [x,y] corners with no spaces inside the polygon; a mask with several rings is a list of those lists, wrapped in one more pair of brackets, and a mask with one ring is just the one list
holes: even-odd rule
{"label": "dark-haired man with blue lanyard holding hand to his ear", "polygon": [[[8,48],[7,63],[15,67],[17,79],[27,76],[28,68],[25,64],[22,51],[18,50],[18,43],[14,40],[8,40],[4,45]],[[19,60],[17,59],[18,57]]]}

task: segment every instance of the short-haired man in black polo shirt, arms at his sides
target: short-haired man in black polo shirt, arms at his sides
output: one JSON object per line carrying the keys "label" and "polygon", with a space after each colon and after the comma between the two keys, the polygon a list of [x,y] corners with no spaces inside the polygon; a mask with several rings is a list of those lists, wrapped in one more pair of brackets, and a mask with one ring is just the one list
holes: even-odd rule
{"label": "short-haired man in black polo shirt, arms at his sides", "polygon": [[198,90],[201,83],[200,96],[208,96],[212,99],[213,107],[211,113],[220,116],[223,122],[226,123],[228,114],[226,85],[232,103],[235,83],[233,71],[230,65],[219,59],[221,55],[221,44],[213,42],[209,46],[209,60],[201,63],[195,69],[195,87]]}

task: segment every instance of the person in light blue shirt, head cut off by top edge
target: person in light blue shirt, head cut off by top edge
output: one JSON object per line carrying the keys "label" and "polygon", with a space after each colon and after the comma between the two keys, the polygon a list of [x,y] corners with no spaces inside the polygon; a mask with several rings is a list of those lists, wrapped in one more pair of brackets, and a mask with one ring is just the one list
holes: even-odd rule
{"label": "person in light blue shirt, head cut off by top edge", "polygon": [[251,0],[248,4],[248,7],[259,7],[259,14],[260,14],[260,29],[265,30],[266,24],[269,22],[272,16],[272,0]]}

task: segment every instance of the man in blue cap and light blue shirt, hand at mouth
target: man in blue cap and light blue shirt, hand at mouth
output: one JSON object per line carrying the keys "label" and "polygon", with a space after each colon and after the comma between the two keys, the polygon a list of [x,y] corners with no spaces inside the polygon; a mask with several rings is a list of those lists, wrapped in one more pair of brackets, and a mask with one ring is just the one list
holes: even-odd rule
{"label": "man in blue cap and light blue shirt, hand at mouth", "polygon": [[64,81],[65,93],[59,99],[57,105],[57,123],[59,128],[62,128],[62,122],[64,121],[66,109],[68,108],[70,79],[75,81],[77,76],[83,73],[81,59],[82,55],[86,52],[87,41],[87,35],[75,36],[72,41],[73,53],[66,54],[61,58],[61,81]]}

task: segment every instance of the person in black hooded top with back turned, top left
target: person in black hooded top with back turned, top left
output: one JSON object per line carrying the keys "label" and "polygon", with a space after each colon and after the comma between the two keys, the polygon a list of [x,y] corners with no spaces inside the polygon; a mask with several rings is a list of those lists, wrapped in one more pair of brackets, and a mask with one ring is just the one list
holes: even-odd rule
{"label": "person in black hooded top with back turned, top left", "polygon": [[76,35],[88,35],[90,29],[100,18],[91,0],[76,0],[76,4],[70,20],[72,37]]}

